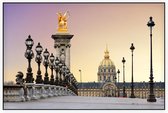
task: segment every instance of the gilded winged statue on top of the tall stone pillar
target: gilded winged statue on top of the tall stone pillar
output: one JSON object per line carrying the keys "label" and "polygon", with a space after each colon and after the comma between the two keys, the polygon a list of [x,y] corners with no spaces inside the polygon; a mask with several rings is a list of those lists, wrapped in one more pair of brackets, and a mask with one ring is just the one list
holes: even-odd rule
{"label": "gilded winged statue on top of the tall stone pillar", "polygon": [[58,32],[67,32],[67,20],[69,18],[69,12],[66,11],[64,14],[61,12],[57,13],[58,15]]}

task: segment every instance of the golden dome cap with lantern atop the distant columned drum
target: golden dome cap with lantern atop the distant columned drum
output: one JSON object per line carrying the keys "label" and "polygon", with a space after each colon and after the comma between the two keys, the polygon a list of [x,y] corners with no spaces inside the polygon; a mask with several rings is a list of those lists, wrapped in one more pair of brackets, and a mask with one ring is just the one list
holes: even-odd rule
{"label": "golden dome cap with lantern atop the distant columned drum", "polygon": [[111,59],[109,58],[109,51],[106,47],[106,51],[104,52],[104,59],[100,62],[100,66],[101,67],[111,67],[114,66],[114,63],[111,61]]}

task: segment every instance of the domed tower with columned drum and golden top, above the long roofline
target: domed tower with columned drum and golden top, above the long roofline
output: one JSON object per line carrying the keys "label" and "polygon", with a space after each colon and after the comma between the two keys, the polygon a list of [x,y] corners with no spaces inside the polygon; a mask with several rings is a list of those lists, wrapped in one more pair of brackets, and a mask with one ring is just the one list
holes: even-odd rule
{"label": "domed tower with columned drum and golden top, above the long roofline", "polygon": [[104,52],[104,59],[100,62],[98,67],[98,82],[115,82],[116,68],[114,63],[109,58],[109,51],[106,48]]}

